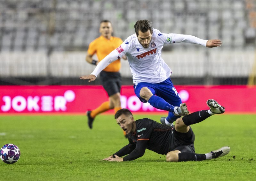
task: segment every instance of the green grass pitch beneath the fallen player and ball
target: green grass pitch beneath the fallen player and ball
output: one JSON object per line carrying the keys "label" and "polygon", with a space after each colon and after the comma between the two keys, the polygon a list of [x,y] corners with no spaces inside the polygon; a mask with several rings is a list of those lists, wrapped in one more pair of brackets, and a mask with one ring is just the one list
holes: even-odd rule
{"label": "green grass pitch beneath the fallen player and ball", "polygon": [[[163,115],[139,115],[159,121]],[[131,162],[101,159],[128,143],[113,115],[100,115],[93,129],[82,115],[1,116],[0,146],[20,148],[17,163],[0,160],[0,180],[254,180],[256,115],[214,115],[192,125],[196,153],[228,145],[227,156],[202,162],[168,163],[146,150]]]}

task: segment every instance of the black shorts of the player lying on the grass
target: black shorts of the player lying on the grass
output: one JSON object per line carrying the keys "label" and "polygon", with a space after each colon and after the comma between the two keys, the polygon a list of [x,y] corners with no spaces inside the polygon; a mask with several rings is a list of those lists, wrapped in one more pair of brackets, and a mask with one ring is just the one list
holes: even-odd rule
{"label": "black shorts of the player lying on the grass", "polygon": [[195,134],[191,127],[187,133],[180,133],[173,129],[173,136],[174,141],[176,143],[176,147],[172,149],[179,150],[180,152],[191,152],[195,153],[194,141],[195,141]]}

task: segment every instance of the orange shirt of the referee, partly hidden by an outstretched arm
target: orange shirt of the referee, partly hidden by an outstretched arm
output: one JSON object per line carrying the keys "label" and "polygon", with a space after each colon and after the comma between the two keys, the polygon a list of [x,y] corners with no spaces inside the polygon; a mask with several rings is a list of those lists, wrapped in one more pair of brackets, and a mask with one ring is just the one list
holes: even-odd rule
{"label": "orange shirt of the referee, partly hidden by an outstretched arm", "polygon": [[[93,55],[96,53],[98,57],[98,61],[100,62],[105,56],[107,56],[110,52],[114,49],[119,47],[123,43],[118,37],[111,36],[110,40],[105,38],[104,36],[100,36],[96,38],[89,44],[89,48],[87,53]],[[120,59],[116,60],[115,62],[110,63],[104,71],[106,72],[118,72],[121,68]]]}

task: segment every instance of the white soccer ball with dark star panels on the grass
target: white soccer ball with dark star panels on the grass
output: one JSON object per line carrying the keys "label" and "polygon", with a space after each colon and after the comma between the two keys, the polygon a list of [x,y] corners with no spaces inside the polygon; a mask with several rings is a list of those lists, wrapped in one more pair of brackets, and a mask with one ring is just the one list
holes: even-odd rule
{"label": "white soccer ball with dark star panels on the grass", "polygon": [[20,158],[20,149],[14,144],[6,144],[0,150],[0,158],[7,164],[15,163]]}

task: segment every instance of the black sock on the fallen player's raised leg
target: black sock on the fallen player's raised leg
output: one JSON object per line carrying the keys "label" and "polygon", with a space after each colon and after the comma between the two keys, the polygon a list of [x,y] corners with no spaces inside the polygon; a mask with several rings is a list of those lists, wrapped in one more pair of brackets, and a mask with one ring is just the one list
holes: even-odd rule
{"label": "black sock on the fallen player's raised leg", "polygon": [[199,123],[203,121],[206,118],[209,118],[211,114],[209,114],[208,110],[201,110],[197,112],[193,112],[191,114],[188,114],[187,116],[184,116],[182,118],[185,125],[189,126],[192,124]]}

